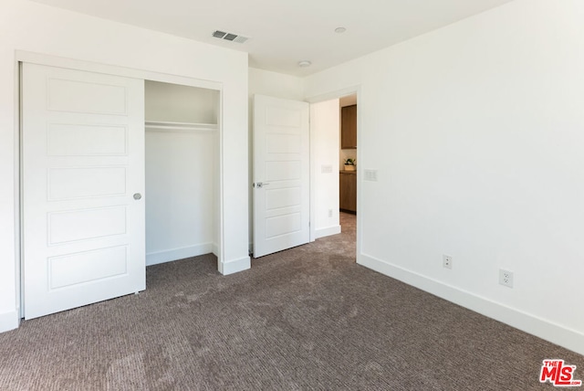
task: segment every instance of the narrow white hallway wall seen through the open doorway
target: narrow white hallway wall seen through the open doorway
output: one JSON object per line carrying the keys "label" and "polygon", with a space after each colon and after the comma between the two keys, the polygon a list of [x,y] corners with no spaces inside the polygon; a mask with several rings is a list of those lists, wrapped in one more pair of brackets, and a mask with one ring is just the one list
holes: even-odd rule
{"label": "narrow white hallway wall seen through the open doorway", "polygon": [[339,226],[339,100],[310,105],[312,183],[315,187],[316,238],[338,234]]}

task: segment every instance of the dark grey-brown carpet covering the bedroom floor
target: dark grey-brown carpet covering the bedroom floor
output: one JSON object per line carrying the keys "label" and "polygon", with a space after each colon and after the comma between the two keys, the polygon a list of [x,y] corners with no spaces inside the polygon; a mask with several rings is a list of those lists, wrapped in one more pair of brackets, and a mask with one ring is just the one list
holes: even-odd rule
{"label": "dark grey-brown carpet covering the bedroom floor", "polygon": [[147,269],[139,295],[0,334],[2,390],[533,390],[584,357],[354,263],[345,232],[255,259]]}

